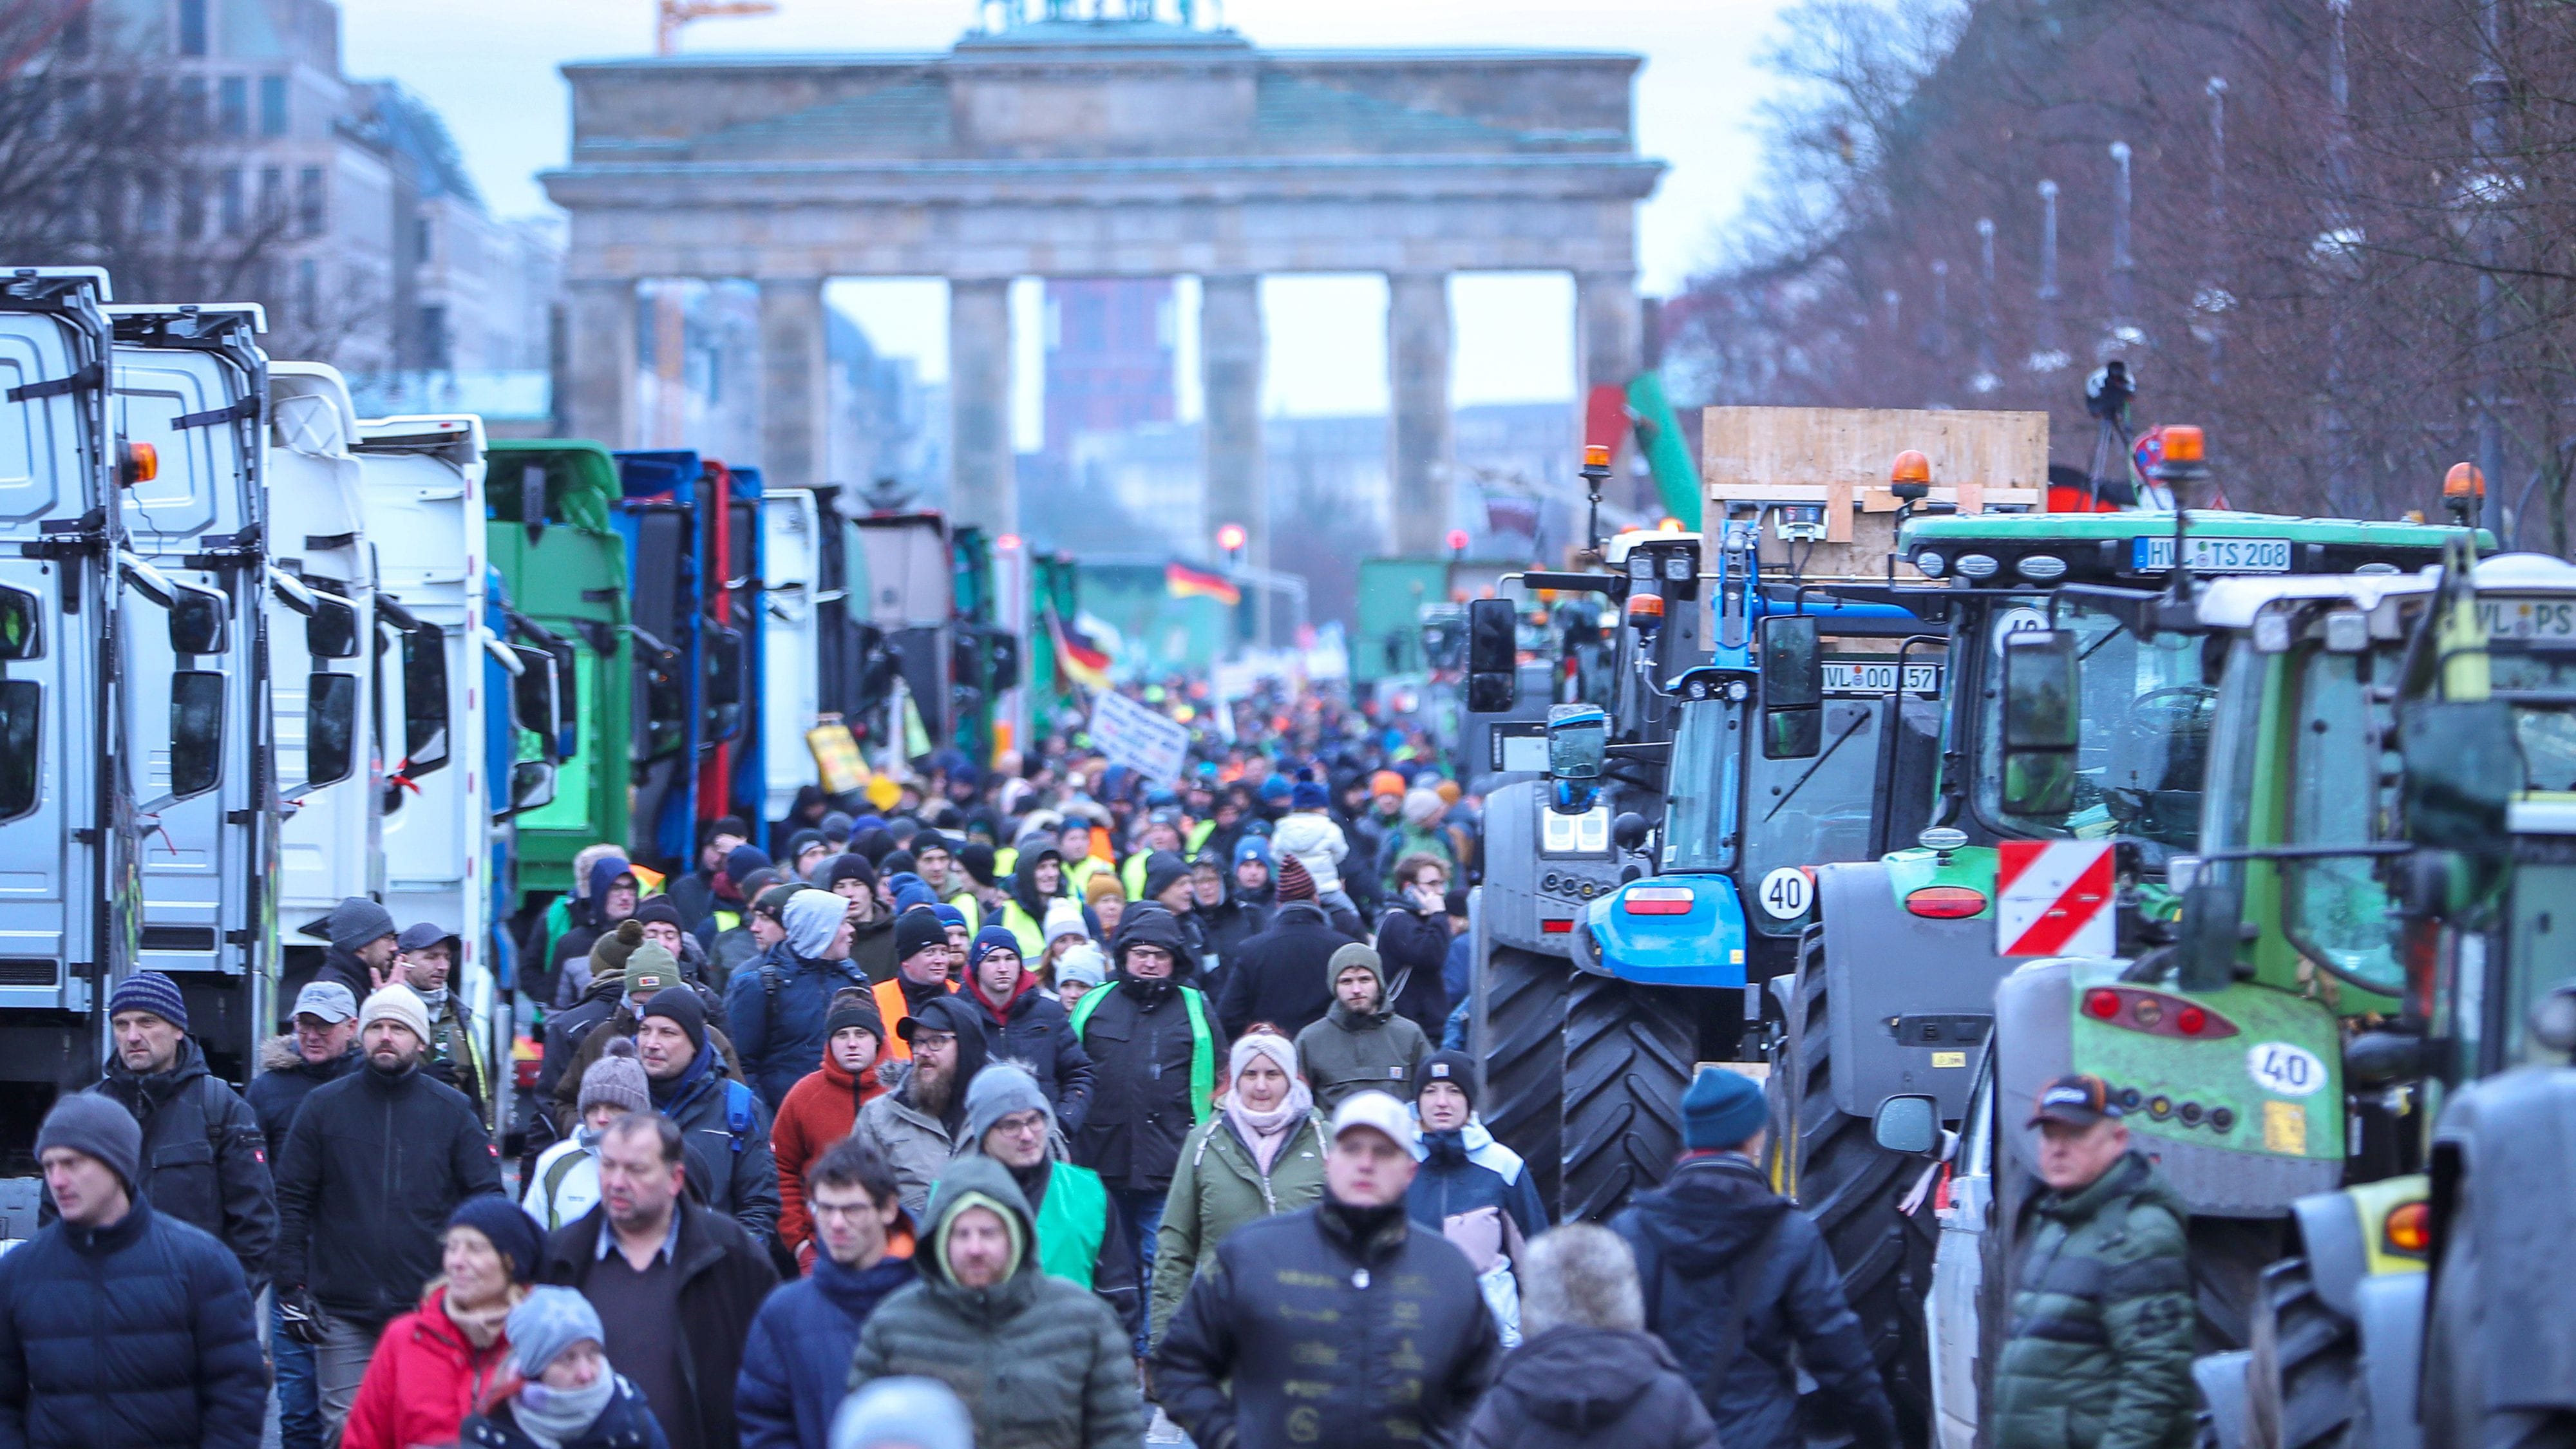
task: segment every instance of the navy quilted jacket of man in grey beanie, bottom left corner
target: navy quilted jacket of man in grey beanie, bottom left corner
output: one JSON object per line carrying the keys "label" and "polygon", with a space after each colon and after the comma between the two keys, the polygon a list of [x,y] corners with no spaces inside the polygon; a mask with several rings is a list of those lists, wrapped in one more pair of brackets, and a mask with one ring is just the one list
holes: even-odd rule
{"label": "navy quilted jacket of man in grey beanie, bottom left corner", "polygon": [[0,1449],[252,1449],[268,1361],[222,1243],[134,1207],[0,1256]]}

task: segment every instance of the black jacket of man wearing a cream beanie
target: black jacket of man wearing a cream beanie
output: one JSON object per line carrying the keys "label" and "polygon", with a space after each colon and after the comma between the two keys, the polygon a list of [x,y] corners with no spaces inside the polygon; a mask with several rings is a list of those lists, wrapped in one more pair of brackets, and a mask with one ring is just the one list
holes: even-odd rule
{"label": "black jacket of man wearing a cream beanie", "polygon": [[420,1067],[358,1067],[317,1085],[286,1132],[276,1281],[337,1318],[392,1323],[438,1276],[456,1204],[497,1191],[500,1155],[466,1093]]}

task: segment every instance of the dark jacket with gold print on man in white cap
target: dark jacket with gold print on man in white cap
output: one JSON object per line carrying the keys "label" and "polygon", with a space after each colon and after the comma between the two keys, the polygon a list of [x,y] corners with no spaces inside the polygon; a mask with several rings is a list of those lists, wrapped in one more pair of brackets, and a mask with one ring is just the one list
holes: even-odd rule
{"label": "dark jacket with gold print on man in white cap", "polygon": [[1466,1253],[1401,1204],[1327,1196],[1226,1238],[1154,1348],[1154,1390],[1203,1449],[1453,1446],[1499,1351]]}

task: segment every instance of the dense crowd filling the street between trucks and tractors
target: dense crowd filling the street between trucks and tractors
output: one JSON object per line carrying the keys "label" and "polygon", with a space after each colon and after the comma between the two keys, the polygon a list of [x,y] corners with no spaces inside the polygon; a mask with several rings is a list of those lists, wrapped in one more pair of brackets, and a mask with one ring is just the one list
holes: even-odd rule
{"label": "dense crowd filling the street between trucks and tractors", "polygon": [[118,982],[0,1256],[0,1449],[247,1449],[270,1400],[283,1449],[1790,1449],[1801,1374],[1891,1444],[1759,1085],[1705,1067],[1669,1181],[1551,1225],[1461,1049],[1479,802],[1280,724],[585,851],[513,1173],[433,928],[317,923],[247,1093]]}

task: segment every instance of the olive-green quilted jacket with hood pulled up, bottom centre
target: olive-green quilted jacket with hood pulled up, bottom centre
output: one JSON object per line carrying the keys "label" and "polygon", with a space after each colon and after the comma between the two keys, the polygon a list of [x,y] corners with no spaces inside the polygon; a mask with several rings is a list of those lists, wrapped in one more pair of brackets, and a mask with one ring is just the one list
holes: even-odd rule
{"label": "olive-green quilted jacket with hood pulled up, bottom centre", "polygon": [[[1020,1261],[987,1289],[961,1287],[940,1253],[945,1227],[992,1204],[1018,1225]],[[1038,1269],[1036,1217],[992,1158],[961,1158],[922,1232],[920,1281],[858,1330],[850,1387],[920,1374],[948,1385],[994,1449],[1131,1449],[1144,1439],[1133,1346],[1092,1294]]]}

